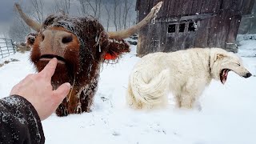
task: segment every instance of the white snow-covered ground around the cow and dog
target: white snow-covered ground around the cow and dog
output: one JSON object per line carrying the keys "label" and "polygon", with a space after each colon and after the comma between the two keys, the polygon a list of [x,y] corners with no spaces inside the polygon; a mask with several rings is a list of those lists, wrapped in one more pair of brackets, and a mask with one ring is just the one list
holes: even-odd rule
{"label": "white snow-covered ground around the cow and dog", "polygon": [[[244,56],[254,41],[242,41]],[[249,46],[249,47],[248,47]],[[255,144],[256,77],[240,78],[230,72],[226,85],[211,82],[200,99],[202,110],[179,110],[170,97],[164,110],[130,110],[126,106],[126,87],[130,70],[139,58],[133,51],[116,65],[102,66],[98,92],[91,113],[58,118],[55,114],[42,122],[46,144]],[[29,53],[15,54],[19,62],[0,67],[0,98],[14,84],[34,73]],[[0,58],[0,63],[9,58]],[[256,58],[244,60],[256,74]]]}

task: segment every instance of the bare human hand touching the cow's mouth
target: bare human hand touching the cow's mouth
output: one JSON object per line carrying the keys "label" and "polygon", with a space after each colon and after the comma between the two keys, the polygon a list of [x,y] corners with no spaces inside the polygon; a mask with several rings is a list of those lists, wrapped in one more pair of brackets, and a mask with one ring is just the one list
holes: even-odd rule
{"label": "bare human hand touching the cow's mouth", "polygon": [[68,82],[53,90],[51,77],[54,75],[57,62],[56,58],[51,59],[41,72],[27,75],[10,92],[10,95],[17,94],[26,98],[37,110],[41,121],[54,113],[70,90]]}

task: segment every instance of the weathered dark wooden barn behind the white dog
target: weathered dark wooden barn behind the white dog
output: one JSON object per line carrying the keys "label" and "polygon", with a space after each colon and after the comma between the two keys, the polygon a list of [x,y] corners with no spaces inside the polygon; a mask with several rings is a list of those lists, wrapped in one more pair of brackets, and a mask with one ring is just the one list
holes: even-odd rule
{"label": "weathered dark wooden barn behind the white dog", "polygon": [[237,52],[242,15],[254,6],[254,0],[137,0],[138,22],[160,1],[158,17],[139,31],[138,56],[193,47]]}

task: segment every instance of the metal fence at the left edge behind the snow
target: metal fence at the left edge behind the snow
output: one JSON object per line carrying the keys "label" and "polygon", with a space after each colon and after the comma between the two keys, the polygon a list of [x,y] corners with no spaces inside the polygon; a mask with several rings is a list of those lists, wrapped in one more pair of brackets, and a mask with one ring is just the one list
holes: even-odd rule
{"label": "metal fence at the left edge behind the snow", "polygon": [[16,53],[16,48],[11,39],[0,38],[0,58],[5,58]]}

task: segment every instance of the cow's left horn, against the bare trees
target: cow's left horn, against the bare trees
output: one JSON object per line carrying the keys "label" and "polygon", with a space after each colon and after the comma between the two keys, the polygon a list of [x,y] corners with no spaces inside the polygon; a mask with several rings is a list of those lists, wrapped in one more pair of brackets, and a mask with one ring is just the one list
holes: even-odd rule
{"label": "cow's left horn, against the bare trees", "polygon": [[39,31],[41,29],[41,24],[38,22],[35,22],[33,19],[26,16],[26,14],[22,11],[21,6],[18,5],[18,3],[14,4],[16,9],[18,10],[18,13],[22,17],[23,21],[26,22],[28,26],[30,26],[33,30]]}

